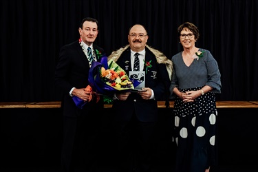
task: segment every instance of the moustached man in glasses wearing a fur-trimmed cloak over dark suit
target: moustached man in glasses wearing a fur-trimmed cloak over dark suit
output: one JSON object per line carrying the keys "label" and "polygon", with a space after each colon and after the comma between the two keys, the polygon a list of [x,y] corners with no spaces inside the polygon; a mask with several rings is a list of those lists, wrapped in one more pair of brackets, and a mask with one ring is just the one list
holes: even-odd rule
{"label": "moustached man in glasses wearing a fur-trimmed cloak over dark suit", "polygon": [[[146,43],[149,36],[143,25],[129,29],[129,45],[112,52],[113,59],[130,76],[130,71],[144,72],[142,91],[118,92],[114,95],[114,147],[118,171],[151,171],[153,139],[158,121],[157,100],[169,96],[172,62]],[[139,63],[133,69],[135,54]],[[142,77],[138,75],[140,79]],[[136,77],[137,78],[137,77]]]}

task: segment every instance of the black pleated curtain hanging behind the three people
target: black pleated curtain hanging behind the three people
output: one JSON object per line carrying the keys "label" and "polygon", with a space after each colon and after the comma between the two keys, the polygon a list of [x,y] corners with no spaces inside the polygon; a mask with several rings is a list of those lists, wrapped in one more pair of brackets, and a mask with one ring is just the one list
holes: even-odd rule
{"label": "black pleated curtain hanging behind the three people", "polygon": [[211,51],[222,74],[217,100],[258,100],[257,0],[1,0],[0,9],[0,101],[60,100],[58,53],[79,38],[85,17],[98,19],[96,43],[107,55],[140,23],[148,45],[171,58],[182,50],[178,26],[195,23],[197,47]]}

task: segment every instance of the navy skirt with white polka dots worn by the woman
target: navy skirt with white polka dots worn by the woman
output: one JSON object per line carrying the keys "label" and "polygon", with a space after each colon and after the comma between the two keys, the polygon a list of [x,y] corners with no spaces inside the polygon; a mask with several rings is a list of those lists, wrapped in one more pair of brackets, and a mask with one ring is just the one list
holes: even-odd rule
{"label": "navy skirt with white polka dots worn by the woman", "polygon": [[[180,89],[180,92],[199,90]],[[176,171],[205,171],[215,164],[217,109],[215,94],[208,92],[192,103],[177,98],[174,103],[174,136],[178,149]]]}

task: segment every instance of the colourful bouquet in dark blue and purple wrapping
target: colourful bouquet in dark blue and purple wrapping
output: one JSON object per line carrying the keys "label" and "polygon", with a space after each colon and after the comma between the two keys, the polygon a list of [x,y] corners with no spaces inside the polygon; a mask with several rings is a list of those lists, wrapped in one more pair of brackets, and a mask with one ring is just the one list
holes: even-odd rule
{"label": "colourful bouquet in dark blue and purple wrapping", "polygon": [[131,90],[139,85],[138,80],[131,80],[125,71],[107,56],[99,62],[93,62],[89,69],[89,85],[94,92],[112,95],[116,92]]}

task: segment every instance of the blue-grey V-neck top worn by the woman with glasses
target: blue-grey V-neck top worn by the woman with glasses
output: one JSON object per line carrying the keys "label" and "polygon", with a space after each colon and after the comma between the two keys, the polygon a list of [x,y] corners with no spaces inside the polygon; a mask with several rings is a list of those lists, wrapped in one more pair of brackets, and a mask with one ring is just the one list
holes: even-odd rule
{"label": "blue-grey V-neck top worn by the woman with glasses", "polygon": [[174,87],[187,89],[203,87],[204,85],[213,87],[211,92],[220,93],[222,84],[217,61],[208,50],[200,48],[199,51],[203,52],[204,56],[200,57],[199,60],[195,58],[189,67],[186,66],[183,61],[182,52],[172,56],[173,73],[170,85],[171,96]]}

